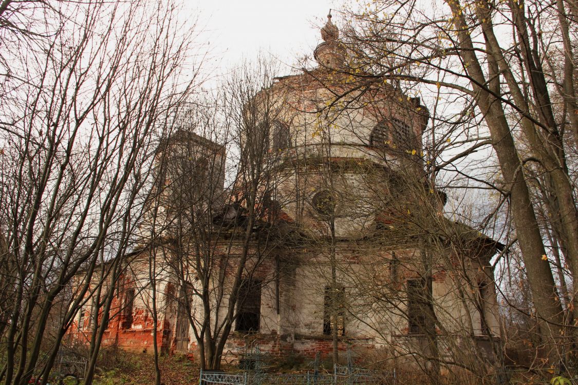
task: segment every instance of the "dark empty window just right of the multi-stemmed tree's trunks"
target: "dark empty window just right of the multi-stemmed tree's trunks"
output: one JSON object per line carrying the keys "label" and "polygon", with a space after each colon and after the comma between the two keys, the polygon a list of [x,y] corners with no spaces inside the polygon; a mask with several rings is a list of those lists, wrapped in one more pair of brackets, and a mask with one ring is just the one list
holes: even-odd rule
{"label": "dark empty window just right of the multi-stemmed tree's trunks", "polygon": [[259,331],[261,321],[261,281],[244,279],[239,287],[236,331]]}

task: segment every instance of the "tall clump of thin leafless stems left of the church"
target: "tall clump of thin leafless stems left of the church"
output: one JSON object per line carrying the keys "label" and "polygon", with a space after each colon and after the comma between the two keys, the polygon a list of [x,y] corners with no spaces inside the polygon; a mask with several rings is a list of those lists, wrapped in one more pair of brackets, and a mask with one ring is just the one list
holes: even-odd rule
{"label": "tall clump of thin leafless stems left of the church", "polygon": [[[10,7],[27,4],[36,5],[2,3],[10,31],[28,25],[15,24]],[[5,384],[25,384],[39,373],[47,382],[62,338],[90,295],[97,298],[86,374],[92,382],[110,288],[136,239],[154,133],[192,92],[192,83],[180,80],[191,41],[174,25],[173,5],[54,7],[42,8],[45,35],[27,29],[35,43],[6,51],[21,58],[10,62],[18,76],[1,95],[3,258],[13,261],[13,278],[2,278],[13,296],[1,336]],[[27,10],[18,15],[27,17]],[[47,321],[73,279],[77,289],[58,303],[65,311],[48,342]]]}

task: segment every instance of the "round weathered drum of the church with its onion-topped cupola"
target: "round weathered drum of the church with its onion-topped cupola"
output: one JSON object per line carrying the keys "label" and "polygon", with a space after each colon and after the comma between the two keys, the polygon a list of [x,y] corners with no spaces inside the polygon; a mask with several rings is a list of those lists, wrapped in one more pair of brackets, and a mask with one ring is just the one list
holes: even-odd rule
{"label": "round weathered drum of the church with its onion-topped cupola", "polygon": [[375,227],[371,170],[401,169],[407,151],[417,160],[427,110],[348,67],[331,14],[321,38],[317,68],[261,91],[274,104],[267,162],[276,165],[276,196],[289,218],[320,231],[331,220],[336,237],[361,238]]}

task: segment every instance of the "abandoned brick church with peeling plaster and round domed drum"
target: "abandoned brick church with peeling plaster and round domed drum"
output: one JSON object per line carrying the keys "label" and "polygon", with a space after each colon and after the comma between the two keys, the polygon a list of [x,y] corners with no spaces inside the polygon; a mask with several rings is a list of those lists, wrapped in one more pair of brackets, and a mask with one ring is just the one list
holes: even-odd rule
{"label": "abandoned brick church with peeling plaster and round domed drum", "polygon": [[[103,343],[217,368],[257,343],[279,360],[496,354],[503,246],[444,216],[427,107],[356,70],[331,17],[321,38],[316,68],[243,102],[238,151],[194,130],[161,143]],[[90,338],[94,302],[75,338]]]}

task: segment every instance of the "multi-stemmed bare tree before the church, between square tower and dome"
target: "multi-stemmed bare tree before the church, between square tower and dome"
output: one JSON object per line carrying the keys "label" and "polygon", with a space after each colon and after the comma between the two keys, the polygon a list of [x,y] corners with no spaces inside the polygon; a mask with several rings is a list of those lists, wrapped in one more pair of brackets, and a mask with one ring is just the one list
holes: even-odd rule
{"label": "multi-stemmed bare tree before the church, between square tower and dome", "polygon": [[273,170],[288,146],[275,136],[272,79],[265,59],[235,70],[218,98],[175,121],[155,162],[149,244],[161,262],[152,271],[170,272],[176,349],[188,351],[190,328],[202,368],[220,368],[232,334],[258,331],[261,302],[249,304],[251,293],[275,280],[263,271],[280,236]]}

